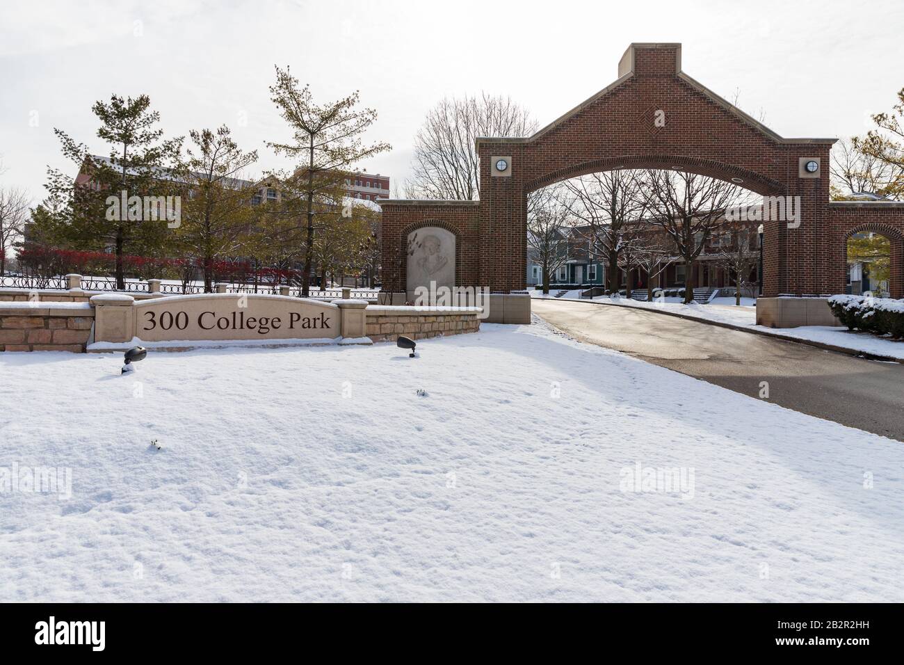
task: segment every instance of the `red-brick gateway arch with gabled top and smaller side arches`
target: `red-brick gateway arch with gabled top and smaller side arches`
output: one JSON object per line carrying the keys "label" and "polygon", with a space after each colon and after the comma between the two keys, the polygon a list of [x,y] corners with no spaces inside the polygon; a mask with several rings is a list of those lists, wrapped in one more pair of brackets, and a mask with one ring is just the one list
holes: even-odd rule
{"label": "red-brick gateway arch with gabled top and smaller side arches", "polygon": [[[681,44],[634,43],[615,82],[532,137],[477,139],[478,202],[381,201],[383,288],[404,288],[393,267],[401,233],[429,217],[460,232],[459,284],[523,290],[530,192],[594,171],[677,166],[761,195],[799,196],[799,225],[765,224],[764,295],[842,292],[838,234],[874,222],[904,230],[904,204],[830,204],[835,140],[783,138],[684,73]],[[495,168],[500,157],[504,172]],[[815,173],[802,169],[811,160]]]}

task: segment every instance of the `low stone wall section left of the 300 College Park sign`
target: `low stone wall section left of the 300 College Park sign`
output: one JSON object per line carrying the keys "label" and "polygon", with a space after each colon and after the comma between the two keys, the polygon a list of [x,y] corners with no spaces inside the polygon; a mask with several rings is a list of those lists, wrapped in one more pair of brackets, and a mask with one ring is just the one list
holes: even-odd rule
{"label": "low stone wall section left of the 300 College Park sign", "polygon": [[84,353],[94,323],[88,303],[68,307],[0,303],[0,351]]}

